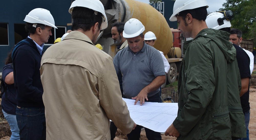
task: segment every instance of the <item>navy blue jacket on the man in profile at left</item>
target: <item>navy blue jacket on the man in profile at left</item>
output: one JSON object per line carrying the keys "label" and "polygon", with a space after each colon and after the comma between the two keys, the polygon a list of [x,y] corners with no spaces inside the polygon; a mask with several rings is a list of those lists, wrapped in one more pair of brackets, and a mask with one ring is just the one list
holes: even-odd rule
{"label": "navy blue jacket on the man in profile at left", "polygon": [[34,41],[27,37],[13,52],[14,86],[17,89],[17,106],[44,107],[43,87],[40,79],[39,53]]}

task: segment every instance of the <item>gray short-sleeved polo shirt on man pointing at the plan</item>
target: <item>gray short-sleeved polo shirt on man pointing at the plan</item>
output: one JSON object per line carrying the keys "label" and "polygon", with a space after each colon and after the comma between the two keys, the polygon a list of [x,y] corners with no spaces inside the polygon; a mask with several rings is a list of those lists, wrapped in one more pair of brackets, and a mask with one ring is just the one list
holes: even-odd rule
{"label": "gray short-sleeved polo shirt on man pointing at the plan", "polygon": [[[119,51],[113,60],[116,73],[123,74],[123,94],[128,99],[135,97],[157,76],[165,75],[164,62],[155,48],[144,43],[141,51],[133,53],[130,47]],[[159,89],[148,93],[147,97],[159,94]]]}

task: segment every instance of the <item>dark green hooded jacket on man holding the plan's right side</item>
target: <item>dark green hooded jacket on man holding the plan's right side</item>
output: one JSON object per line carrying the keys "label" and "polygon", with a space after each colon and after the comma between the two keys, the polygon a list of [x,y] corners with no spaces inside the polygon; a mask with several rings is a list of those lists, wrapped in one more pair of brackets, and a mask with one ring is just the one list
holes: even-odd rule
{"label": "dark green hooded jacket on man holding the plan's right side", "polygon": [[204,29],[184,43],[180,65],[177,139],[246,137],[241,79],[229,33]]}

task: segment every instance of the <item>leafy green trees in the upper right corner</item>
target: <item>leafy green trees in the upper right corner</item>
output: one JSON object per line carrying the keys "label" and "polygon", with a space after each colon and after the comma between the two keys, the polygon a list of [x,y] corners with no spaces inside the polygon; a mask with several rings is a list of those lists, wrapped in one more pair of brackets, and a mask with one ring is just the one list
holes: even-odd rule
{"label": "leafy green trees in the upper right corner", "polygon": [[240,29],[243,38],[254,39],[256,45],[256,0],[226,0],[222,5],[226,10],[234,13],[234,19],[231,20],[231,28]]}

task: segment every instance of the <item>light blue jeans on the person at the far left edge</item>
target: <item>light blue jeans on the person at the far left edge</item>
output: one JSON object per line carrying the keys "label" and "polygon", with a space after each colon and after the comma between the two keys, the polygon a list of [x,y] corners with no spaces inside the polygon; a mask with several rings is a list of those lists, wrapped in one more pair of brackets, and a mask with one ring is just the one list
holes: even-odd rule
{"label": "light blue jeans on the person at the far left edge", "polygon": [[19,128],[17,125],[16,115],[8,114],[3,109],[2,112],[4,114],[4,118],[7,120],[11,128],[12,135],[10,140],[19,140]]}

